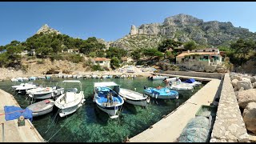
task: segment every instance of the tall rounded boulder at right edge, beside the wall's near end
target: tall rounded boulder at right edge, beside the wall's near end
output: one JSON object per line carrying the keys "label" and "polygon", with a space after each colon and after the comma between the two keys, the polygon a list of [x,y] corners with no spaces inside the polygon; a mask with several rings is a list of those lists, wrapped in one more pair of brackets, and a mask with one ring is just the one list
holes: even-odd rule
{"label": "tall rounded boulder at right edge, beside the wall's near end", "polygon": [[250,102],[242,113],[246,129],[256,134],[256,102]]}

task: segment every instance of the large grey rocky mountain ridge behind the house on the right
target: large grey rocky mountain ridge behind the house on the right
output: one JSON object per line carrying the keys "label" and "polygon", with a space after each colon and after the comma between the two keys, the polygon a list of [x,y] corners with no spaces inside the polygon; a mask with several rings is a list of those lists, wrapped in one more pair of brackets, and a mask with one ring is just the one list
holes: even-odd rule
{"label": "large grey rocky mountain ridge behind the house on the right", "polygon": [[178,14],[166,18],[162,23],[142,24],[138,27],[132,25],[130,34],[111,42],[110,46],[126,50],[150,48],[158,46],[166,38],[181,42],[194,40],[206,46],[225,46],[238,38],[256,38],[256,34],[245,28],[234,27],[231,22],[203,22],[187,14]]}

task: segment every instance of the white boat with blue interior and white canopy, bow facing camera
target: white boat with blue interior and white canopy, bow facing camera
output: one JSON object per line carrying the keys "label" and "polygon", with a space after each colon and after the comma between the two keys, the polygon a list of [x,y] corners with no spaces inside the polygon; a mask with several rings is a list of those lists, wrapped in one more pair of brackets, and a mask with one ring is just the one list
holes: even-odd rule
{"label": "white boat with blue interior and white canopy, bow facing camera", "polygon": [[[108,86],[114,86],[114,90]],[[114,82],[94,82],[94,102],[100,110],[109,114],[110,118],[118,118],[124,103],[117,90],[119,86]]]}

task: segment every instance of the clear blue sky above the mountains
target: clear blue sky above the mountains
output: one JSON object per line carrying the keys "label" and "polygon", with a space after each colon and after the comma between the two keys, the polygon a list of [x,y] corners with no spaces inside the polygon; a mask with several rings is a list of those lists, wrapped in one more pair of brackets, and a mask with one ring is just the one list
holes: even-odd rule
{"label": "clear blue sky above the mountains", "polygon": [[34,35],[44,24],[74,38],[114,41],[130,26],[190,14],[256,31],[256,2],[0,2],[0,46]]}

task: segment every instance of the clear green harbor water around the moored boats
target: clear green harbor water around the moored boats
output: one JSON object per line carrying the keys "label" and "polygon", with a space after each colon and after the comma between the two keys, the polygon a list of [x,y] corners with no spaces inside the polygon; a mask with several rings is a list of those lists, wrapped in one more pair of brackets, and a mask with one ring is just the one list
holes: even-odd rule
{"label": "clear green harbor water around the moored boats", "polygon": [[[51,84],[61,83],[64,79],[51,79]],[[198,86],[193,92],[179,92],[178,99],[156,100],[150,98],[150,105],[146,108],[124,103],[119,118],[111,119],[109,115],[99,110],[92,100],[93,82],[116,82],[122,88],[134,90],[143,93],[143,86],[164,86],[161,80],[149,81],[146,78],[134,79],[79,79],[82,82],[86,102],[74,114],[60,118],[55,107],[50,114],[34,118],[33,125],[42,135],[42,138],[49,142],[123,142],[126,137],[132,138],[135,135],[146,130],[154,123],[162,119],[162,116],[170,114],[178,106],[186,102],[194,93],[204,86]],[[49,80],[35,81],[38,84],[50,84]],[[13,94],[18,104],[22,108],[30,105],[29,99],[24,95],[11,92],[10,86],[18,85],[20,82],[0,82],[0,89]],[[55,118],[57,114],[57,117]],[[54,119],[55,118],[55,119]],[[54,121],[53,121],[54,120]],[[52,123],[53,122],[53,123]],[[52,123],[52,125],[51,125]],[[51,126],[50,126],[51,125]],[[50,127],[50,129],[49,129]],[[48,130],[48,131],[47,131]],[[58,133],[57,133],[58,132]]]}

